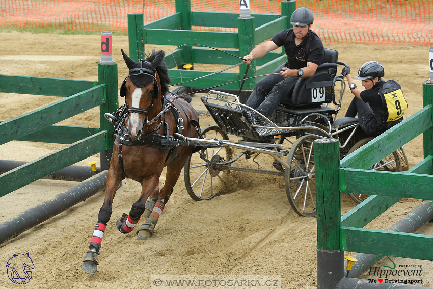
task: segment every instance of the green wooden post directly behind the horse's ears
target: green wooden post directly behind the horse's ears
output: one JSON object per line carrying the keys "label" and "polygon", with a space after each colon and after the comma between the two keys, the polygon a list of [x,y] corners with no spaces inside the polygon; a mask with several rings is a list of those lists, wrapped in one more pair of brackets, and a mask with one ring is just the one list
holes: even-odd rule
{"label": "green wooden post directly behind the horse's ears", "polygon": [[128,14],[129,57],[133,61],[144,59],[144,55],[139,52],[144,52],[144,43],[146,43],[146,39],[143,39],[143,25],[143,13]]}

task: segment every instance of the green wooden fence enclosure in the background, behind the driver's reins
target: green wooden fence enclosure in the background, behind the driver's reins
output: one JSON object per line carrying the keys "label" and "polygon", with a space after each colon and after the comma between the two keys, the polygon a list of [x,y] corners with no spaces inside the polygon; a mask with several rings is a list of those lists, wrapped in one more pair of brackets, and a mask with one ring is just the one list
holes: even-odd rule
{"label": "green wooden fence enclosure in the background, behind the driver's reins", "polygon": [[[296,9],[296,1],[282,1],[281,15],[252,14],[250,18],[239,18],[239,13],[214,13],[191,11],[190,0],[176,0],[176,13],[156,21],[143,24],[143,14],[128,14],[129,54],[138,61],[144,58],[145,44],[176,45],[196,43],[217,47],[231,54],[243,57],[259,43],[272,38],[276,33],[290,27],[290,16]],[[237,28],[238,32],[192,31],[192,26]],[[231,48],[227,50],[225,48]],[[165,61],[169,68],[184,64],[223,64],[241,62],[233,56],[209,48],[180,47],[168,53]],[[176,59],[176,63],[173,60]],[[247,77],[273,72],[286,62],[283,49],[271,52],[261,59],[253,60]],[[239,66],[239,73],[221,72],[213,77],[201,78],[187,83],[191,87],[213,87],[236,80],[242,80],[246,65]],[[208,71],[182,70],[182,78],[177,69],[169,69],[172,84],[194,80],[209,74]],[[247,80],[245,90],[252,90],[257,78]],[[239,89],[241,82],[224,86],[225,89]]]}

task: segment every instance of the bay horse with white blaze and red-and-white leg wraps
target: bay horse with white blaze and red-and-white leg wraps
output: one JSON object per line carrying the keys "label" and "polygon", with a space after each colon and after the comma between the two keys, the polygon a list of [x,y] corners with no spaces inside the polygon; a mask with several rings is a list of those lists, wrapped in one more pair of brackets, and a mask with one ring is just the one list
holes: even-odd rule
{"label": "bay horse with white blaze and red-and-white leg wraps", "polygon": [[[139,199],[116,222],[121,233],[129,233],[144,213],[144,224],[138,229],[138,240],[154,233],[155,225],[164,210],[182,167],[195,149],[180,145],[174,133],[199,137],[198,115],[184,99],[169,95],[171,80],[164,62],[163,50],[152,50],[145,60],[135,62],[122,49],[129,75],[120,88],[125,104],[114,115],[116,140],[107,174],[105,198],[90,240],[82,271],[96,273],[101,241],[112,214],[113,199],[120,182],[130,178],[141,183]],[[166,181],[159,191],[159,177],[167,166]]]}

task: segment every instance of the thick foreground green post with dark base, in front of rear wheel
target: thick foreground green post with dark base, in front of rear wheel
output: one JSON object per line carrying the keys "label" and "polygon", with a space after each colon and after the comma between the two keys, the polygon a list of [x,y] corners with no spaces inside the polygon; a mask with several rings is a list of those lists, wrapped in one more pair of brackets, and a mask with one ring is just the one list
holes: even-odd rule
{"label": "thick foreground green post with dark base, in front of rear wheel", "polygon": [[317,205],[317,288],[335,288],[344,277],[340,250],[341,198],[338,189],[339,141],[314,141]]}

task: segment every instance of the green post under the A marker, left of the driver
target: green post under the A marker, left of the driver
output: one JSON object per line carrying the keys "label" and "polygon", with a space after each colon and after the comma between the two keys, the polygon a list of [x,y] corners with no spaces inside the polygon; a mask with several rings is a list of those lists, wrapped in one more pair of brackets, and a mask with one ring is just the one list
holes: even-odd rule
{"label": "green post under the A marker, left of the driver", "polygon": [[[239,56],[244,57],[251,52],[255,47],[254,33],[256,30],[256,19],[250,18],[237,18],[238,27],[238,38],[239,38]],[[274,36],[274,35],[273,35]],[[240,61],[240,60],[239,60]],[[239,66],[239,80],[243,79],[247,65]],[[256,76],[256,60],[253,60],[248,68],[248,77]],[[242,82],[239,82],[239,87]],[[242,90],[253,90],[254,84],[256,83],[255,78],[251,78],[245,81]]]}

